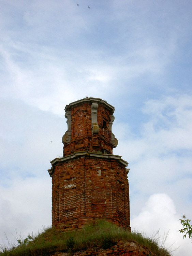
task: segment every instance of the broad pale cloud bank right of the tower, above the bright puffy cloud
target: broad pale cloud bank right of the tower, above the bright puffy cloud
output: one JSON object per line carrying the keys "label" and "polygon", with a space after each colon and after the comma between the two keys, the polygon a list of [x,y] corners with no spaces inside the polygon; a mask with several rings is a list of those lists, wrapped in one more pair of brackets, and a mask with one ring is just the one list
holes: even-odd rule
{"label": "broad pale cloud bank right of the tower, above the bright puffy cloud", "polygon": [[145,123],[135,133],[129,117],[120,129],[114,122],[119,140],[114,154],[129,162],[131,214],[138,214],[151,194],[162,192],[174,200],[180,216],[191,214],[191,102],[185,94],[149,100],[143,108]]}

